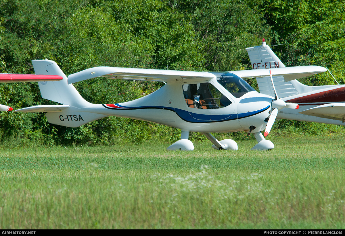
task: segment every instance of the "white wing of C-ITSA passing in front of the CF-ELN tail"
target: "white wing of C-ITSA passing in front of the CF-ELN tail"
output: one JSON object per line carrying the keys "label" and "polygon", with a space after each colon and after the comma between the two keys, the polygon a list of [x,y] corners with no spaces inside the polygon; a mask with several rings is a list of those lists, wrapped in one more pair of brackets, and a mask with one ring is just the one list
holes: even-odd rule
{"label": "white wing of C-ITSA passing in front of the CF-ELN tail", "polygon": [[254,78],[269,76],[269,70],[272,71],[272,76],[284,76],[285,82],[327,71],[327,69],[322,66],[290,66],[271,69],[248,69],[243,71],[229,72],[234,73],[241,78]]}

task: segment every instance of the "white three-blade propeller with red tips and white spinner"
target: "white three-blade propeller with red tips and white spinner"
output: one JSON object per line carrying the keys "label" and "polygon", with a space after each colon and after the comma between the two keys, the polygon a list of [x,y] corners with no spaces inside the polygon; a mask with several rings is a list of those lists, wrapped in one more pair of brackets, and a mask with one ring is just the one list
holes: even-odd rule
{"label": "white three-blade propeller with red tips and white spinner", "polygon": [[266,129],[265,129],[265,132],[264,132],[264,136],[265,137],[269,134],[269,132],[272,129],[274,121],[277,118],[278,110],[283,109],[285,107],[286,108],[291,108],[291,109],[298,109],[299,108],[299,105],[296,104],[296,103],[286,103],[282,99],[278,98],[278,95],[277,95],[277,92],[276,92],[276,88],[274,87],[271,70],[269,70],[269,76],[271,78],[271,82],[272,82],[275,98],[272,100],[272,106],[271,107],[273,108],[273,111],[271,112],[271,115],[269,116],[269,119],[268,119],[268,122],[267,122],[267,125],[266,125]]}

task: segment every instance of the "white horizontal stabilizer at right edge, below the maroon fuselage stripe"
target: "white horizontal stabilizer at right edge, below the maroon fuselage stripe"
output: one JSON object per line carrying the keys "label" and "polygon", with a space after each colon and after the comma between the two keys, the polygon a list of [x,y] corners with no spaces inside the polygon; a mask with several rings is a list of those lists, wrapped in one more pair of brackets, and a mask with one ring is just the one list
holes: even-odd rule
{"label": "white horizontal stabilizer at right edge, below the maroon fuselage stripe", "polygon": [[301,111],[299,113],[332,120],[341,120],[345,122],[345,103],[325,104]]}

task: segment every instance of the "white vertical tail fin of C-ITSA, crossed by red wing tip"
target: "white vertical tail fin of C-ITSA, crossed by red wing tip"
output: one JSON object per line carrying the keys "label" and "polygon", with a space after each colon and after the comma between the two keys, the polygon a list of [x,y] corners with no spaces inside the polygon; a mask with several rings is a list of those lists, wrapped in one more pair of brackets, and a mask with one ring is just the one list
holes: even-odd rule
{"label": "white vertical tail fin of C-ITSA, crossed by red wing tip", "polygon": [[67,84],[67,77],[56,62],[50,60],[33,60],[32,65],[35,74],[60,75],[63,77],[61,81],[38,82],[42,98],[74,107],[84,107],[90,104],[80,96],[72,84]]}

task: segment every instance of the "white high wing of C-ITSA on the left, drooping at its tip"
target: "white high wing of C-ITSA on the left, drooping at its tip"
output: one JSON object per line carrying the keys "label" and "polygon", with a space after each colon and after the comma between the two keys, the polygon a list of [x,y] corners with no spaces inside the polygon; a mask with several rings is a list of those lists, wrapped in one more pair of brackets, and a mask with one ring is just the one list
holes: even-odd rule
{"label": "white high wing of C-ITSA on the left, drooping at its tip", "polygon": [[99,66],[89,68],[74,74],[70,74],[67,78],[68,84],[72,84],[86,79],[96,78],[99,76],[108,77],[112,79],[130,79],[139,81],[160,82],[171,82],[184,79],[194,79],[197,81],[203,81],[215,77],[215,75],[208,72],[171,71],[161,69],[140,69]]}

